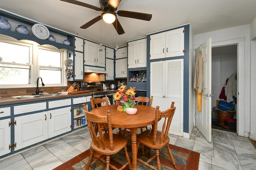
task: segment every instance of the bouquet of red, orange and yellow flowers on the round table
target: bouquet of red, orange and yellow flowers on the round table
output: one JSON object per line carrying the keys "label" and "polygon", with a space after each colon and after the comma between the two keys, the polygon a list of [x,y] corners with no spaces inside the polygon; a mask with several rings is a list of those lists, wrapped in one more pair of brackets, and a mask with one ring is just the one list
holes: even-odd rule
{"label": "bouquet of red, orange and yellow flowers on the round table", "polygon": [[134,107],[136,104],[135,102],[135,88],[136,87],[130,87],[129,90],[126,90],[126,86],[122,85],[120,88],[118,88],[118,92],[114,94],[114,99],[116,100],[116,104],[123,104],[124,105],[124,111],[125,107]]}

